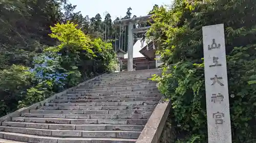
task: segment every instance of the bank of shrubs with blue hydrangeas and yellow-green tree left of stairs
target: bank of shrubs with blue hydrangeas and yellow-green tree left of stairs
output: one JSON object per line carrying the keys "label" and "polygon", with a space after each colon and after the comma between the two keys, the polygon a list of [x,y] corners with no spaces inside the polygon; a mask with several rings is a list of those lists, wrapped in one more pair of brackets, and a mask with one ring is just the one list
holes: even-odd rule
{"label": "bank of shrubs with blue hydrangeas and yellow-green tree left of stairs", "polygon": [[57,46],[37,53],[31,67],[12,65],[0,71],[2,115],[116,69],[112,44],[91,40],[76,27],[70,22],[55,24],[50,37],[59,41]]}

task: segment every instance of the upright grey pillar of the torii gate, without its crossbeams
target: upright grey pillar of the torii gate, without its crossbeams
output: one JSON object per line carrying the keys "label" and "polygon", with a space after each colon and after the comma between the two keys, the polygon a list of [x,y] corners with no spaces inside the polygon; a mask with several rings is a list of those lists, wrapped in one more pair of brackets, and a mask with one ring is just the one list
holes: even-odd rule
{"label": "upright grey pillar of the torii gate, without its crossbeams", "polygon": [[127,60],[127,71],[133,71],[133,23],[129,22],[128,25],[128,60]]}

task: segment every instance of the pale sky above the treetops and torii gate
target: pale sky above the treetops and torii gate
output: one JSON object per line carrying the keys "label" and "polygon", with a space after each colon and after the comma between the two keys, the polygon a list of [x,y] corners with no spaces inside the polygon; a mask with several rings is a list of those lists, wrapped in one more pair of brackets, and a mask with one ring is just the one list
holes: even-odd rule
{"label": "pale sky above the treetops and torii gate", "polygon": [[83,16],[94,17],[99,13],[104,18],[104,12],[110,13],[112,19],[124,17],[127,8],[132,8],[132,16],[144,16],[152,10],[155,4],[170,5],[172,0],[69,0],[72,5],[77,5],[76,11],[81,11]]}

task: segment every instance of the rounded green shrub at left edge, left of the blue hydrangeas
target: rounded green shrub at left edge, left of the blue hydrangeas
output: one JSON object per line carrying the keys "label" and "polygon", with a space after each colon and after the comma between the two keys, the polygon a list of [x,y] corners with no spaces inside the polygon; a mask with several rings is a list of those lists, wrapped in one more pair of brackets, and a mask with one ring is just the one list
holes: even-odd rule
{"label": "rounded green shrub at left edge, left of the blue hydrangeas", "polygon": [[26,97],[31,87],[31,72],[24,66],[12,65],[0,70],[0,116],[17,109],[18,101]]}

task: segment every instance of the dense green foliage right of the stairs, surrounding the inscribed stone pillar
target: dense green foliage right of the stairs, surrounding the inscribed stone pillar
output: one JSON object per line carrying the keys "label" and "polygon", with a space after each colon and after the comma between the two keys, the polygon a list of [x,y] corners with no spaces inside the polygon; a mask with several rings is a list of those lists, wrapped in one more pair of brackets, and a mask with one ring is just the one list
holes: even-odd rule
{"label": "dense green foliage right of the stairs, surrounding the inscribed stone pillar", "polygon": [[256,3],[176,0],[155,10],[151,33],[165,69],[161,92],[172,100],[177,142],[207,142],[202,26],[225,25],[232,141],[256,141]]}

